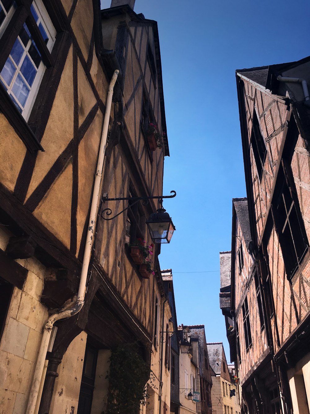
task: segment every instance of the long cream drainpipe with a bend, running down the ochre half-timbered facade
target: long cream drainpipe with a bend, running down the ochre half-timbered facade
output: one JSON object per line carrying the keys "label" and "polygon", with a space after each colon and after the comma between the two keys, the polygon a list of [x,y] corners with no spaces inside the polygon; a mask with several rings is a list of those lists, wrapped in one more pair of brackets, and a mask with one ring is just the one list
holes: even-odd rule
{"label": "long cream drainpipe with a bend, running down the ochre half-timbered facade", "polygon": [[101,134],[101,141],[100,141],[100,148],[99,148],[99,155],[98,155],[98,162],[97,162],[97,169],[95,173],[95,183],[93,188],[93,195],[91,200],[91,212],[89,214],[89,224],[88,224],[88,231],[86,235],[86,243],[84,249],[84,256],[83,256],[83,264],[81,270],[81,278],[79,284],[79,291],[77,294],[77,299],[71,308],[67,310],[62,310],[59,313],[55,313],[52,315],[45,324],[43,330],[43,336],[41,340],[41,346],[38,354],[38,359],[36,363],[36,369],[34,371],[33,380],[29,392],[29,400],[27,404],[26,414],[34,414],[36,405],[37,404],[37,397],[40,388],[41,378],[44,370],[44,363],[46,358],[46,352],[48,350],[48,344],[50,342],[50,336],[52,333],[53,325],[57,320],[70,318],[71,316],[76,315],[81,310],[82,306],[84,305],[84,298],[86,292],[86,279],[88,273],[88,266],[89,261],[91,258],[91,245],[93,242],[93,232],[95,228],[95,219],[96,219],[96,212],[97,212],[97,205],[99,200],[99,190],[101,184],[101,177],[103,171],[103,159],[105,156],[105,146],[107,143],[107,132],[109,128],[109,120],[110,120],[110,113],[111,113],[111,105],[112,105],[112,96],[113,96],[113,89],[117,79],[117,75],[119,74],[119,70],[115,70],[112,76],[109,92],[107,94],[107,105],[105,108],[105,118],[103,121],[103,130]]}

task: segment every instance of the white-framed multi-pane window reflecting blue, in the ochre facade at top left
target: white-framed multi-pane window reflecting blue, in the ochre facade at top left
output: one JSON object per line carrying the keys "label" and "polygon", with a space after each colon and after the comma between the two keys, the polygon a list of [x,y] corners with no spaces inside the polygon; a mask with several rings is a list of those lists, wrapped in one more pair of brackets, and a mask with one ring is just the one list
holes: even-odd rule
{"label": "white-framed multi-pane window reflecting blue, in the ochre facade at top left", "polygon": [[[1,7],[2,5],[5,7],[3,3],[5,3],[4,0],[0,0]],[[14,4],[15,2],[12,2],[10,8],[10,10],[13,9],[13,12]],[[3,23],[10,18],[10,10],[7,12]],[[38,26],[41,40],[50,52],[55,42],[56,31],[40,0],[33,1],[31,14]],[[26,120],[30,116],[31,108],[46,69],[39,49],[25,22],[0,73],[2,85]]]}

